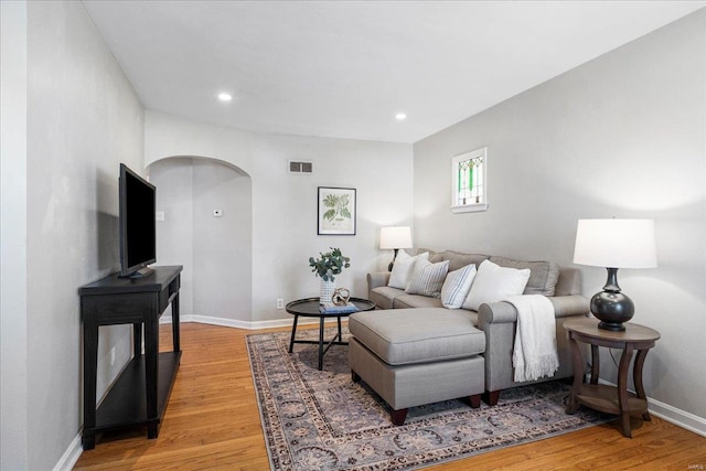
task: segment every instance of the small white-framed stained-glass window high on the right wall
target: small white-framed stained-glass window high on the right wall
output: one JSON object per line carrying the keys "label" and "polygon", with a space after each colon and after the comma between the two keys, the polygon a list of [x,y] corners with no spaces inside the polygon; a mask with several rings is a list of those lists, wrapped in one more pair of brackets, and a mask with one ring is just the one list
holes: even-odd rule
{"label": "small white-framed stained-glass window high on the right wall", "polygon": [[451,159],[451,212],[488,211],[488,149],[482,148]]}

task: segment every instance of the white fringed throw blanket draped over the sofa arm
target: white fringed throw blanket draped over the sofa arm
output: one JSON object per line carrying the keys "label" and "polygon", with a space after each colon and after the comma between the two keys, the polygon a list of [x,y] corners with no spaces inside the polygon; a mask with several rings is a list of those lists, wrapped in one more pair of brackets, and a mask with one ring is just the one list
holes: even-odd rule
{"label": "white fringed throw blanket draped over the sofa arm", "polygon": [[559,367],[559,354],[552,301],[542,295],[512,296],[506,301],[517,309],[517,332],[512,354],[515,381],[554,376]]}

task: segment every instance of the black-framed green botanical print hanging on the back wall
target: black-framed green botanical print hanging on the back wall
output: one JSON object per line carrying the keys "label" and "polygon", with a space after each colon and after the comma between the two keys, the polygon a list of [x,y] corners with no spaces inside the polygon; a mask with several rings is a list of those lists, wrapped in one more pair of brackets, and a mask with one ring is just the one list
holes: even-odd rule
{"label": "black-framed green botanical print hanging on the back wall", "polygon": [[355,235],[355,189],[319,186],[319,235]]}

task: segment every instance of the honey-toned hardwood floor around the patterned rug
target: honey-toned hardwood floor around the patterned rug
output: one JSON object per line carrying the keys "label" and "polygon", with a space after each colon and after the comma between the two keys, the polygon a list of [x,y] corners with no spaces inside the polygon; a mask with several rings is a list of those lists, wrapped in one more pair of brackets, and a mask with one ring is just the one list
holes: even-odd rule
{"label": "honey-toned hardwood floor around the patterned rug", "polygon": [[[160,350],[169,350],[171,327]],[[159,438],[143,430],[98,437],[77,470],[268,470],[244,331],[183,323],[183,356]],[[432,470],[706,469],[706,438],[656,417],[617,422],[429,468]]]}

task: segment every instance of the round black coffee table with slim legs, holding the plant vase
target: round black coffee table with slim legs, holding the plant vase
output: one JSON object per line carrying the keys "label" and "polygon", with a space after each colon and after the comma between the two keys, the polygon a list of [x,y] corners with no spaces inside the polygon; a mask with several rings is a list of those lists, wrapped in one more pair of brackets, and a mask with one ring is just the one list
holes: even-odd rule
{"label": "round black coffee table with slim legs, holding the plant vase", "polygon": [[[351,298],[350,302],[355,304],[357,308],[357,312],[360,311],[372,311],[375,309],[375,303],[373,301],[368,301],[367,299],[362,298]],[[291,301],[287,303],[285,309],[287,312],[295,317],[295,322],[291,325],[291,340],[289,341],[289,353],[292,352],[295,343],[313,343],[319,345],[319,371],[323,367],[323,354],[329,351],[331,345],[347,345],[347,342],[343,342],[343,335],[341,335],[341,318],[349,317],[351,312],[342,312],[342,313],[322,313],[319,309],[319,298],[306,298],[298,299],[296,301]],[[296,340],[297,335],[297,322],[299,322],[299,317],[304,318],[319,318],[319,340]],[[327,319],[335,318],[339,324],[339,333],[329,341],[325,349],[323,347],[323,323]]]}

